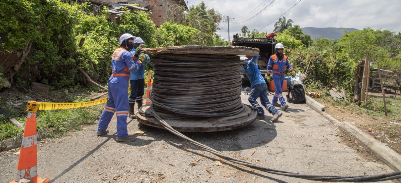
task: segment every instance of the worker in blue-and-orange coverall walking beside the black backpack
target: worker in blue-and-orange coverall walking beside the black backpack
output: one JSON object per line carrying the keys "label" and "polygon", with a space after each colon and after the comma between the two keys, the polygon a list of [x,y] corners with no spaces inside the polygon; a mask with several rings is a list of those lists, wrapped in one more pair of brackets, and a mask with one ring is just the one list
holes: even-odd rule
{"label": "worker in blue-and-orange coverall walking beside the black backpack", "polygon": [[[271,55],[269,63],[267,64],[267,77],[270,76],[270,71],[273,70],[273,81],[275,85],[274,95],[273,95],[273,106],[281,107],[283,110],[288,108],[286,100],[283,97],[283,85],[284,85],[284,70],[287,68],[292,77],[295,77],[295,69],[292,68],[291,64],[288,62],[288,58],[283,54],[284,46],[281,43],[275,45],[276,54]],[[280,100],[280,104],[277,103]]]}

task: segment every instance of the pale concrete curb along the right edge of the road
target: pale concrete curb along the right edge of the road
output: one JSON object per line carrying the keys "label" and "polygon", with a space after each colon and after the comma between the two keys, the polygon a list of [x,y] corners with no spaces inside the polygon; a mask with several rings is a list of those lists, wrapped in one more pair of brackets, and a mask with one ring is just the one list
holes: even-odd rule
{"label": "pale concrete curb along the right edge of the road", "polygon": [[379,159],[381,159],[381,161],[386,163],[389,167],[391,167],[395,171],[401,171],[401,155],[396,153],[394,150],[383,145],[375,138],[359,130],[349,122],[339,122],[332,116],[326,114],[326,112],[324,112],[324,106],[308,96],[306,96],[306,104],[308,104],[311,108],[316,110],[324,118],[332,122],[334,126],[344,131],[348,136],[351,136],[356,140],[358,140],[361,144],[363,144],[363,146],[367,147],[373,154],[375,154]]}

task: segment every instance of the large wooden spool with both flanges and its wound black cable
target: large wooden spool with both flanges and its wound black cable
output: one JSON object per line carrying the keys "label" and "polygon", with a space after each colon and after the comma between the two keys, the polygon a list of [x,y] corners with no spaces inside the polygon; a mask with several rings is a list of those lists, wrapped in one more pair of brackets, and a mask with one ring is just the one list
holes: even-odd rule
{"label": "large wooden spool with both flanges and its wound black cable", "polygon": [[137,114],[142,124],[160,126],[151,106],[183,132],[232,130],[255,121],[256,113],[241,102],[242,62],[237,55],[258,55],[258,49],[187,45],[144,51],[157,55],[152,58],[152,105]]}

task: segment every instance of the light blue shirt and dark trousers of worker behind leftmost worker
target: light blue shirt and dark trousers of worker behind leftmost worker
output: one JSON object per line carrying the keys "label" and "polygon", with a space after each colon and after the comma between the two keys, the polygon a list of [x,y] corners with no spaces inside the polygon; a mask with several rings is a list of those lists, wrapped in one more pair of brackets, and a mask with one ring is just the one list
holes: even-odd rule
{"label": "light blue shirt and dark trousers of worker behind leftmost worker", "polygon": [[[135,50],[131,51],[132,55],[135,55]],[[144,62],[149,63],[150,57],[146,55],[146,60]],[[134,62],[137,62],[138,58],[134,58]],[[131,94],[130,94],[130,106],[134,106],[135,102],[142,102],[142,96],[144,96],[145,88],[145,64],[139,67],[138,71],[130,73],[130,83],[131,83]]]}

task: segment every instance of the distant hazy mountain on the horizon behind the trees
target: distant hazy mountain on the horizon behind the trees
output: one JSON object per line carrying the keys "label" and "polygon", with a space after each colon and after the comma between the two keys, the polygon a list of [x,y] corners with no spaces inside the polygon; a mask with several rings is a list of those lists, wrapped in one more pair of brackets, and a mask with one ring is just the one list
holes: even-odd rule
{"label": "distant hazy mountain on the horizon behind the trees", "polygon": [[310,35],[314,40],[317,37],[330,39],[340,39],[345,32],[352,32],[352,31],[359,31],[356,28],[336,28],[336,27],[324,27],[324,28],[317,28],[317,27],[304,27],[301,28],[304,34]]}

